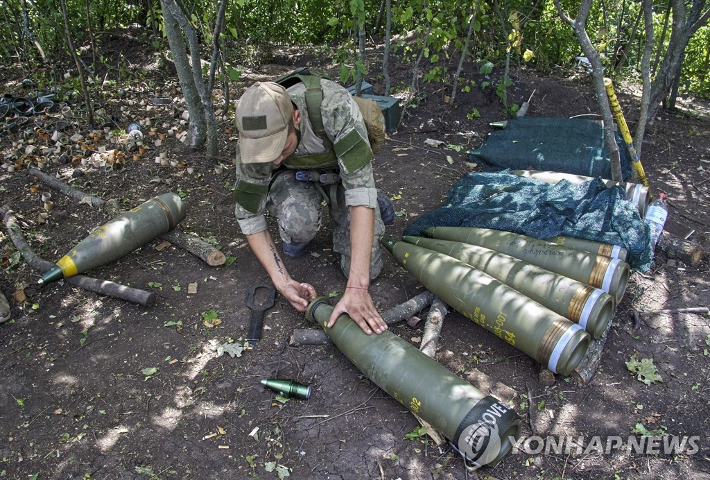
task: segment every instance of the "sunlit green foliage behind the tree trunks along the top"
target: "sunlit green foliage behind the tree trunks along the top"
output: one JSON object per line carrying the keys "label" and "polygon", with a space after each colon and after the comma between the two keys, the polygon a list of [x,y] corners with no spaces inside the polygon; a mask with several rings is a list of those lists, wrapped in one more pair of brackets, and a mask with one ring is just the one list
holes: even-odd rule
{"label": "sunlit green foliage behind the tree trunks along the top", "polygon": [[[101,38],[100,33],[104,31],[129,26],[152,33],[156,46],[166,45],[161,32],[159,0],[65,1],[77,45],[89,45],[89,32]],[[207,51],[217,2],[188,0],[182,5],[188,18],[192,18],[202,32]],[[384,2],[375,0],[229,0],[224,29],[226,55],[232,65],[248,64],[271,60],[273,49],[278,45],[320,45],[334,51],[337,62],[354,70],[356,17],[364,12],[368,39],[379,43],[385,25],[383,5]],[[473,0],[464,3],[393,1],[395,54],[407,61],[415,60],[422,52],[423,80],[450,81],[466,40],[474,5]],[[562,5],[572,16],[579,9],[578,2],[573,0],[562,0]],[[668,41],[668,35],[662,37],[667,8],[667,1],[655,0],[655,49]],[[37,66],[43,62],[29,31],[48,58],[68,58],[59,0],[4,0],[0,3],[0,13],[7,26],[0,31],[0,62],[4,67]],[[587,30],[601,53],[607,76],[634,79],[640,76],[644,36],[643,18],[637,23],[639,15],[638,1],[593,2]],[[25,22],[27,29],[23,28]],[[510,38],[504,35],[503,26]],[[542,73],[569,67],[574,58],[581,55],[571,28],[559,20],[552,0],[481,0],[469,45],[470,59],[481,64],[490,61],[502,65],[509,48],[512,49],[511,65],[530,65]],[[699,29],[686,50],[680,79],[682,93],[710,97],[709,59],[710,28],[706,25]],[[50,60],[47,66],[51,69],[53,65],[55,62]]]}

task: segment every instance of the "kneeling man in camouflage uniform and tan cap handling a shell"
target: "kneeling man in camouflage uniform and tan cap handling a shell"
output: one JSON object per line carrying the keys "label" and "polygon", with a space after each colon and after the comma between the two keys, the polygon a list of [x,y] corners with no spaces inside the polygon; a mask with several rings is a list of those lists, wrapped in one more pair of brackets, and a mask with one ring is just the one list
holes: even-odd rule
{"label": "kneeling man in camouflage uniform and tan cap handling a shell", "polygon": [[330,80],[316,81],[316,94],[322,93],[316,103],[307,98],[300,81],[288,90],[275,82],[256,82],[241,96],[236,106],[235,215],[275,287],[296,310],[305,312],[317,296],[315,288],[286,271],[264,213],[268,210],[278,220],[283,253],[297,258],[307,253],[320,229],[325,200],[333,250],[341,255],[348,278],[329,327],[346,312],[367,334],[381,333],[387,324],[368,287],[382,269],[378,238],[385,227],[366,125],[346,89]]}

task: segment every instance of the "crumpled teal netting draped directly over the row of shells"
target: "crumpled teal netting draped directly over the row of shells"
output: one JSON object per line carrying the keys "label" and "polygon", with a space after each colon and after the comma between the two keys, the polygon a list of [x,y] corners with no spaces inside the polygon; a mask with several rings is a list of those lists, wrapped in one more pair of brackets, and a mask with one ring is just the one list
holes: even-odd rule
{"label": "crumpled teal netting draped directly over the row of shells", "polygon": [[558,235],[624,246],[631,268],[648,271],[650,232],[621,187],[599,179],[549,185],[502,173],[469,173],[449,190],[448,204],[419,217],[404,232],[427,227],[481,227],[536,239]]}

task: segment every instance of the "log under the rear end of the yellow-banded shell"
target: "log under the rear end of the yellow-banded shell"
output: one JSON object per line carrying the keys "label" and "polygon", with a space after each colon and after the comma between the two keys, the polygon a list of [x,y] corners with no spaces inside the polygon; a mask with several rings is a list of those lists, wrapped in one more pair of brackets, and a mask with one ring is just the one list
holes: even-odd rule
{"label": "log under the rear end of the yellow-banded shell", "polygon": [[[87,193],[67,185],[65,182],[60,182],[60,180],[57,180],[56,178],[47,175],[43,171],[37,170],[36,168],[28,168],[27,171],[32,175],[35,175],[35,177],[42,180],[50,187],[62,192],[64,195],[67,195],[67,197],[75,198],[80,202],[91,204],[92,207],[103,207],[104,211],[112,217],[116,217],[124,213],[124,210],[119,207],[117,202],[111,202],[110,200],[107,202],[102,198],[88,195]],[[226,263],[226,256],[222,253],[222,251],[215,249],[214,246],[208,244],[206,241],[200,240],[197,236],[187,234],[182,230],[173,229],[168,231],[166,234],[160,235],[158,238],[167,240],[171,244],[177,245],[185,251],[189,251],[192,255],[200,258],[200,260],[204,261],[204,263],[207,263],[209,266],[220,266]]]}

